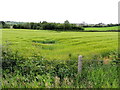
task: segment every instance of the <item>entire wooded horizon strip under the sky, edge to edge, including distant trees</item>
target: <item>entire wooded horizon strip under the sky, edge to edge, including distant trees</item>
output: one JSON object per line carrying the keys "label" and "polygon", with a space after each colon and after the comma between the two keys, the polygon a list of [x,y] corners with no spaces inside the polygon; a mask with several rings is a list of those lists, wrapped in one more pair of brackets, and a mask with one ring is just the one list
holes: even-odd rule
{"label": "entire wooded horizon strip under the sky, edge to edge, including distant trees", "polygon": [[48,23],[46,21],[43,22],[39,22],[39,23],[34,23],[34,22],[14,22],[12,24],[4,22],[4,21],[0,21],[0,27],[2,28],[11,28],[11,26],[15,29],[36,29],[36,30],[58,30],[58,31],[73,31],[73,30],[77,30],[77,31],[83,31],[84,28],[87,27],[112,27],[112,26],[120,26],[120,24],[103,24],[103,23],[99,23],[99,24],[88,24],[88,25],[77,25],[77,24],[71,24],[69,23],[68,20],[64,21],[64,23]]}

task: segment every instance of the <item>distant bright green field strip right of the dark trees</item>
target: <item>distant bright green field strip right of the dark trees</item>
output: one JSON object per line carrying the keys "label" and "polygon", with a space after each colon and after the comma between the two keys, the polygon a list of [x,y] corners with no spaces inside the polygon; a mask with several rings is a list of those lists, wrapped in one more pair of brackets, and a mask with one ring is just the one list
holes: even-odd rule
{"label": "distant bright green field strip right of the dark trees", "polygon": [[120,30],[120,26],[113,27],[88,27],[85,28],[85,31],[116,31]]}

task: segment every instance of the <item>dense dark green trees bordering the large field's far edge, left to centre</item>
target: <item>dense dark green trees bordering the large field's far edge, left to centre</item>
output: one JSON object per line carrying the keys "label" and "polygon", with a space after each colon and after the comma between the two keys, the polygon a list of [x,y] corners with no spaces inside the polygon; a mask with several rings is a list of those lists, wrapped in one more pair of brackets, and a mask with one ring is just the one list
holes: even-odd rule
{"label": "dense dark green trees bordering the large field's far edge, left to centre", "polygon": [[[5,24],[5,22],[1,22],[1,23],[3,28],[10,27],[10,25]],[[58,31],[84,30],[82,26],[77,26],[76,24],[70,24],[68,20],[64,21],[64,23],[48,23],[46,21],[43,21],[39,23],[30,22],[30,23],[22,23],[22,24],[13,24],[12,26],[15,29],[58,30]]]}

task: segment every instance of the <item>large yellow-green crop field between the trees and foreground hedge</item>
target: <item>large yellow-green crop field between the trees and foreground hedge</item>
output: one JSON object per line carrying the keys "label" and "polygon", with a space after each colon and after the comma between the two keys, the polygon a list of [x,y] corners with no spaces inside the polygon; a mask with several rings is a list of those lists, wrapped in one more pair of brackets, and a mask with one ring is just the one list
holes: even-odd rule
{"label": "large yellow-green crop field between the trees and foreground hedge", "polygon": [[12,50],[19,50],[25,57],[32,53],[48,60],[68,60],[83,55],[107,54],[118,49],[118,32],[56,32],[45,30],[2,31],[3,45],[10,44]]}

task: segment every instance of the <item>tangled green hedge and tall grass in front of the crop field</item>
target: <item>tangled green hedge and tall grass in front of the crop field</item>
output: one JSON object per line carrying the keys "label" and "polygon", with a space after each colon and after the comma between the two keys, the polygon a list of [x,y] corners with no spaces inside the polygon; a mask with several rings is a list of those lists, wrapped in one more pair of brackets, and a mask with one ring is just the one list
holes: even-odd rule
{"label": "tangled green hedge and tall grass in front of the crop field", "polygon": [[[6,53],[5,53],[6,52]],[[77,74],[77,62],[49,61],[43,57],[23,58],[19,53],[3,49],[2,88],[118,88],[116,64],[83,62]],[[6,61],[6,60],[9,61]],[[4,63],[17,63],[5,66]]]}

